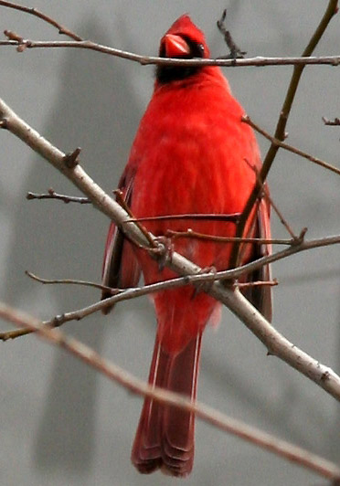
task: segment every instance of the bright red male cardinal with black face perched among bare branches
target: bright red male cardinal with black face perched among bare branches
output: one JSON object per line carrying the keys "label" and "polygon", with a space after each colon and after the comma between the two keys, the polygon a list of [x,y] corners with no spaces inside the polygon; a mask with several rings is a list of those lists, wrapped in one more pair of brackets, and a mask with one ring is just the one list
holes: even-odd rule
{"label": "bright red male cardinal with black face perched among bare branches", "polygon": [[[179,17],[161,40],[165,58],[208,58],[203,33],[187,15]],[[242,211],[256,182],[260,153],[244,111],[231,95],[218,67],[158,66],[154,94],[135,136],[119,187],[134,217],[183,214],[232,214]],[[252,167],[253,166],[253,167]],[[255,167],[255,170],[254,170]],[[155,236],[188,227],[208,235],[233,237],[229,221],[168,219],[144,222]],[[270,238],[270,209],[261,199],[250,215],[244,236]],[[231,243],[199,238],[175,238],[175,251],[201,268],[228,269]],[[268,252],[263,245],[243,245],[240,263]],[[137,285],[175,277],[160,269],[147,252],[111,225],[103,263],[103,283],[110,287]],[[247,280],[268,280],[264,267]],[[110,294],[103,292],[103,298]],[[250,288],[254,305],[271,319],[269,287]],[[220,304],[204,291],[186,285],[154,293],[157,333],[149,383],[189,396],[197,395],[202,333],[207,322],[219,320]],[[133,443],[134,466],[143,473],[158,468],[186,476],[194,460],[194,415],[145,398]]]}

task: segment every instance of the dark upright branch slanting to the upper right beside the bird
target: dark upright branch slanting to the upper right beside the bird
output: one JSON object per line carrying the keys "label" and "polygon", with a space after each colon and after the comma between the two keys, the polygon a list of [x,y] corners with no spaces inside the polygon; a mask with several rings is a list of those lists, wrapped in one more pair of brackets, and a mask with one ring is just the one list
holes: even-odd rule
{"label": "dark upright branch slanting to the upper right beside the bird", "polygon": [[[320,21],[319,26],[317,26],[315,32],[313,33],[313,36],[311,40],[308,43],[308,46],[304,49],[303,51],[303,58],[309,58],[312,56],[314,48],[316,48],[319,40],[324,34],[325,29],[327,28],[329,22],[335,16],[337,13],[338,7],[337,7],[337,0],[329,0],[329,3],[327,5],[327,8],[324,12],[324,16]],[[290,112],[292,110],[292,103],[295,98],[296,91],[299,86],[299,82],[301,79],[301,76],[303,74],[303,69],[305,68],[305,64],[301,65],[295,65],[293,72],[292,72],[292,79],[290,81],[285,100],[283,101],[282,105],[282,110],[280,112],[279,120],[276,125],[276,130],[274,134],[274,138],[279,141],[283,141],[285,138],[285,128],[288,122],[288,118],[290,115]],[[263,182],[266,180],[267,175],[269,174],[269,171],[271,170],[271,165],[275,159],[276,153],[279,150],[279,145],[277,143],[271,143],[271,146],[264,158],[261,170],[260,170],[260,183],[263,184]],[[236,236],[237,237],[242,237],[244,228],[246,226],[246,223],[248,221],[248,218],[250,217],[251,210],[253,206],[256,203],[256,200],[258,199],[258,196],[261,191],[261,184],[257,183],[254,185],[253,190],[251,191],[251,194],[248,198],[247,204],[244,207],[242,216],[239,219],[239,224],[237,227],[236,231]],[[230,257],[230,266],[235,267],[238,263],[239,259],[239,243],[235,243],[231,252],[231,257]]]}

